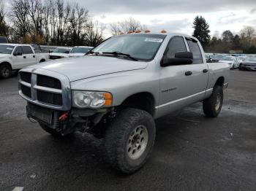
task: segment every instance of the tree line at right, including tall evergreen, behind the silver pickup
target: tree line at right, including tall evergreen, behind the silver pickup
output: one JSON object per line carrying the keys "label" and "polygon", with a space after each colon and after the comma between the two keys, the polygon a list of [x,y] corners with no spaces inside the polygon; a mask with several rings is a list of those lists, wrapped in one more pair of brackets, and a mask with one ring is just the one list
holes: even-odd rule
{"label": "tree line at right, including tall evergreen, behind the silver pickup", "polygon": [[221,35],[216,32],[210,36],[209,25],[202,16],[195,17],[193,23],[193,36],[203,45],[206,52],[213,53],[256,53],[256,31],[252,26],[244,26],[239,34],[233,34],[230,30]]}

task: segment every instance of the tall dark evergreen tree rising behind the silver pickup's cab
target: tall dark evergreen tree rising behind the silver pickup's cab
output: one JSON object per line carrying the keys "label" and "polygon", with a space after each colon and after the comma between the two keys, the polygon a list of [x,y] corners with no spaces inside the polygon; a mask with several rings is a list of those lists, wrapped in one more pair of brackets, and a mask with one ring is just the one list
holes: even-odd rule
{"label": "tall dark evergreen tree rising behind the silver pickup's cab", "polygon": [[195,17],[193,25],[193,28],[195,28],[195,30],[192,36],[196,37],[203,47],[206,47],[211,39],[211,31],[209,30],[208,23],[206,23],[206,19],[202,16],[197,16]]}

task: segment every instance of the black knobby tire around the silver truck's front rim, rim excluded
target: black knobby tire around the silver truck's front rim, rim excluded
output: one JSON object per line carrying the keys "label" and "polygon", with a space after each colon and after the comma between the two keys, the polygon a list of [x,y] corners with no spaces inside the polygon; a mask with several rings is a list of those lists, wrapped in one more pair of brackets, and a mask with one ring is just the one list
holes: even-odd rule
{"label": "black knobby tire around the silver truck's front rim, rim excluded", "polygon": [[[140,125],[146,127],[148,141],[140,157],[132,159],[127,153],[128,141]],[[148,160],[154,147],[155,135],[155,124],[151,114],[140,109],[123,109],[106,130],[105,149],[108,162],[124,174],[134,173]]]}

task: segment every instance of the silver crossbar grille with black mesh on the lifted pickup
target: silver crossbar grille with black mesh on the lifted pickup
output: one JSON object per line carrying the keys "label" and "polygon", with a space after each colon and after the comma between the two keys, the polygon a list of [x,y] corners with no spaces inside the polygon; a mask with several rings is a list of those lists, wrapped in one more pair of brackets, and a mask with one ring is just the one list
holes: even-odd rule
{"label": "silver crossbar grille with black mesh on the lifted pickup", "polygon": [[[59,78],[59,76],[57,77]],[[67,87],[69,81],[64,79],[64,77],[60,77],[60,79],[67,81],[64,81],[66,89],[62,88],[61,80],[55,77],[20,71],[19,93],[31,103],[47,106],[52,109],[67,110],[70,107],[69,103],[71,103],[69,100],[70,90]],[[63,92],[66,95],[63,95]]]}

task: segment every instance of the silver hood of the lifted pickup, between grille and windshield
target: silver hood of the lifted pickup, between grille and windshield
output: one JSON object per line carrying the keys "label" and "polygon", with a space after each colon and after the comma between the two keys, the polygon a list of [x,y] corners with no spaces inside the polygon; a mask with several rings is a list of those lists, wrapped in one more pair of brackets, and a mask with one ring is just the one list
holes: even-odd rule
{"label": "silver hood of the lifted pickup, between grille and windshield", "polygon": [[29,66],[64,74],[70,82],[122,71],[145,69],[146,62],[129,61],[121,58],[88,55],[78,58],[64,58]]}

